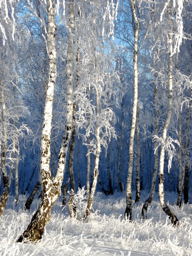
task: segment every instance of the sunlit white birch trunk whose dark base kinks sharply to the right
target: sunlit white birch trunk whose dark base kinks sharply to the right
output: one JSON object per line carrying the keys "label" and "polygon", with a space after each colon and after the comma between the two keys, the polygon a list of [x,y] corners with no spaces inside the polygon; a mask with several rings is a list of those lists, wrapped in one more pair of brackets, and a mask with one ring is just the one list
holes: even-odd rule
{"label": "sunlit white birch trunk whose dark base kinks sharply to the right", "polygon": [[[169,5],[168,5],[169,8]],[[171,18],[171,13],[170,10],[168,10],[168,17],[169,19]],[[166,140],[166,135],[167,135],[167,129],[169,127],[169,123],[171,120],[171,115],[172,115],[172,72],[173,72],[173,47],[172,47],[172,36],[171,32],[168,32],[169,36],[169,96],[168,96],[168,112],[167,112],[167,119],[165,121],[164,127],[163,127],[163,134],[162,134],[162,140],[165,143]],[[164,195],[164,156],[165,156],[165,147],[164,145],[161,146],[161,151],[160,151],[160,158],[159,158],[159,189],[158,189],[158,195],[159,195],[159,200],[162,209],[164,212],[169,216],[171,222],[174,225],[178,224],[178,219],[175,216],[175,214],[172,212],[172,210],[169,208],[169,206],[165,203],[165,195]]]}

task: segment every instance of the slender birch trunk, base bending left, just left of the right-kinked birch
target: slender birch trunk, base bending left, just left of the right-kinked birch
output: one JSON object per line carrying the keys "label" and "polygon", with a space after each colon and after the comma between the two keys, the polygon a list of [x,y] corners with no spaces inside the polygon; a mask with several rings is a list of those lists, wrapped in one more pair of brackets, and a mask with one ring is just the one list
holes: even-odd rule
{"label": "slender birch trunk, base bending left, just left of the right-kinked birch", "polygon": [[[155,73],[155,88],[154,88],[154,96],[155,96],[155,135],[158,135],[159,130],[159,111],[158,111],[158,76]],[[157,142],[155,142],[155,148],[157,148]],[[148,206],[153,201],[153,197],[155,194],[155,187],[156,187],[156,177],[157,177],[157,168],[158,168],[158,149],[155,150],[155,162],[154,162],[154,169],[153,169],[153,177],[151,181],[151,193],[149,198],[145,201],[141,215],[142,218],[146,218]]]}

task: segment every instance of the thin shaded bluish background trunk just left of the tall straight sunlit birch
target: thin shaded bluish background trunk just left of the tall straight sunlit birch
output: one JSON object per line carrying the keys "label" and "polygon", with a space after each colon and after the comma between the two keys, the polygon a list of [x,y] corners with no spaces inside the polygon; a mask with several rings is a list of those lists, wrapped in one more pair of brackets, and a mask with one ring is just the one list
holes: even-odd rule
{"label": "thin shaded bluish background trunk just left of the tall straight sunlit birch", "polygon": [[118,164],[117,164],[117,179],[118,179],[118,183],[119,183],[120,192],[123,192],[123,184],[122,184],[122,180],[121,180],[122,152],[123,152],[123,133],[124,133],[124,98],[122,100],[121,138],[120,138],[119,154],[118,154]]}

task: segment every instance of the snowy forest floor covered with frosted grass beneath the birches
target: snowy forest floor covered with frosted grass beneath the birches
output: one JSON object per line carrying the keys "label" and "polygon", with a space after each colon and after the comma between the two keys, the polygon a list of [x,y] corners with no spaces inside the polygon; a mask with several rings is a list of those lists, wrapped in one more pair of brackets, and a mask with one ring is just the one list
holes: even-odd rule
{"label": "snowy forest floor covered with frosted grass beneath the birches", "polygon": [[[10,197],[0,217],[0,256],[191,256],[192,198],[190,204],[182,204],[178,209],[177,194],[165,193],[166,201],[180,221],[174,227],[162,211],[157,194],[147,219],[141,220],[142,204],[147,196],[141,193],[141,202],[137,205],[133,202],[132,223],[124,220],[125,194],[106,197],[97,193],[93,213],[86,223],[71,219],[68,206],[62,206],[60,198],[37,244],[16,243],[16,240],[27,227],[39,200],[34,200],[31,210],[24,212],[27,197],[20,196],[17,206],[14,197]],[[85,206],[84,191],[78,193],[76,203],[80,219]]]}

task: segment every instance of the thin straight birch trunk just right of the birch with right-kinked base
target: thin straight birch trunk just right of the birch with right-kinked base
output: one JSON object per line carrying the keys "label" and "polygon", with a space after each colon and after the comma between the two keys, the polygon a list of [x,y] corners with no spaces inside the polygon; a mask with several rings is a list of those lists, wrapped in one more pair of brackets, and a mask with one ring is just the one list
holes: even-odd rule
{"label": "thin straight birch trunk just right of the birch with right-kinked base", "polygon": [[181,140],[181,132],[182,132],[182,113],[180,110],[179,113],[179,157],[178,157],[178,162],[179,162],[179,176],[178,176],[178,182],[177,182],[177,193],[178,193],[178,198],[177,198],[177,206],[180,208],[181,203],[182,203],[182,140]]}

